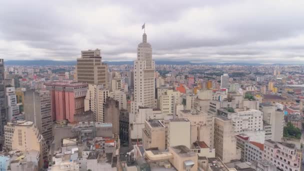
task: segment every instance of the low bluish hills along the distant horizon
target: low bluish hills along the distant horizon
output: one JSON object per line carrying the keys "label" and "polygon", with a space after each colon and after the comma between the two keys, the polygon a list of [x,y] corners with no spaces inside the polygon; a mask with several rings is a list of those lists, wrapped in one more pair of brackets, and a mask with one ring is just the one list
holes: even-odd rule
{"label": "low bluish hills along the distant horizon", "polygon": [[[114,64],[114,65],[122,65],[122,64],[133,64],[133,61],[104,61],[107,64]],[[27,66],[46,66],[46,65],[75,65],[76,60],[72,61],[59,61],[59,60],[7,60],[4,61],[5,65],[27,65]],[[172,60],[156,60],[156,64],[175,64],[175,65],[184,65],[184,64],[209,64],[209,65],[259,65],[259,63],[242,63],[242,62],[235,62],[235,63],[218,63],[218,62],[195,62],[192,63],[190,61],[172,61]]]}

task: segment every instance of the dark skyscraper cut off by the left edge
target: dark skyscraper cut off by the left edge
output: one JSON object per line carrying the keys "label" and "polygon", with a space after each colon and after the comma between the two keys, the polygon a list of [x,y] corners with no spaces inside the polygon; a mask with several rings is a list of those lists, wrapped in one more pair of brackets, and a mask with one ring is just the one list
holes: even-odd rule
{"label": "dark skyscraper cut off by the left edge", "polygon": [[4,82],[4,60],[0,59],[0,136],[4,134],[4,125],[6,124],[6,99]]}

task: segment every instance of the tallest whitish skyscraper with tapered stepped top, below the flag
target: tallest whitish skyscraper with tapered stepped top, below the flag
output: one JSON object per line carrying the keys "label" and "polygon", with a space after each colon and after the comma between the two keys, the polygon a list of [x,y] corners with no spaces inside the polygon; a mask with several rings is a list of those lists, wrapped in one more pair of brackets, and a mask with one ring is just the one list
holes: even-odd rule
{"label": "tallest whitish skyscraper with tapered stepped top, below the flag", "polygon": [[[152,47],[142,35],[142,42],[137,47],[137,60],[134,61],[134,108],[154,107],[155,100],[155,62],[152,60]],[[135,109],[135,110],[136,110]]]}

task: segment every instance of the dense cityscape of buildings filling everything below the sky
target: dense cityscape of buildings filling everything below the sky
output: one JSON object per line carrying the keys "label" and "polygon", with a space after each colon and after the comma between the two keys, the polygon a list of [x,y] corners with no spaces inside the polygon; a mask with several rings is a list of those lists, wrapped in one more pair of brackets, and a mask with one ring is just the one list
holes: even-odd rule
{"label": "dense cityscape of buildings filling everything below the sky", "polygon": [[304,65],[155,64],[146,33],[136,53],[0,59],[0,169],[301,170]]}

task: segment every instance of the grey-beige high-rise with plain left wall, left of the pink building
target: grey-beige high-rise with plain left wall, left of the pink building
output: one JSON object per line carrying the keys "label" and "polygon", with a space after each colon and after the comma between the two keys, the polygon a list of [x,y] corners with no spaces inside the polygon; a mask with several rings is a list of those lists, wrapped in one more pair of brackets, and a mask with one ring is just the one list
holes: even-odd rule
{"label": "grey-beige high-rise with plain left wall, left of the pink building", "polygon": [[39,132],[49,143],[52,140],[51,99],[48,90],[24,92],[25,120],[34,122]]}

